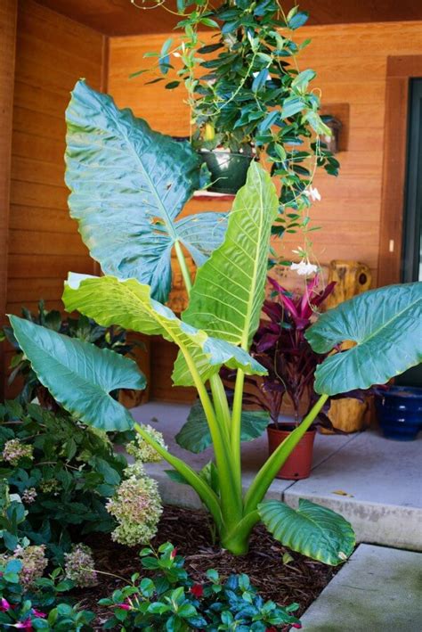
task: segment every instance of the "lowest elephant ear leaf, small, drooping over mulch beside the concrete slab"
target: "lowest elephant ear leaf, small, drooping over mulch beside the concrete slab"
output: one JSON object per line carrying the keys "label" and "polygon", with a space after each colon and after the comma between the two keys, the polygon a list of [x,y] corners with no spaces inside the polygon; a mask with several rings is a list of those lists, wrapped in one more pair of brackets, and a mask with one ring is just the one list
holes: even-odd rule
{"label": "lowest elephant ear leaf, small, drooping over mulch beside the concrete slab", "polygon": [[337,566],[353,553],[352,525],[339,513],[301,498],[292,509],[280,500],[266,500],[258,512],[272,536],[293,551]]}

